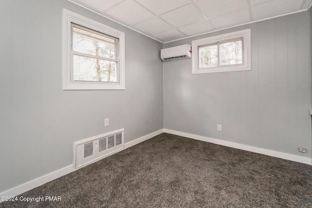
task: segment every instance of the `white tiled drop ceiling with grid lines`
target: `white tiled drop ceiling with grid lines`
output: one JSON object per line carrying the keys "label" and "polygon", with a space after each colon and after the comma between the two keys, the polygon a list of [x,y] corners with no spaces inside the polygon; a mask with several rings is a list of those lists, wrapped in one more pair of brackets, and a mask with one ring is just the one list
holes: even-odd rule
{"label": "white tiled drop ceiling with grid lines", "polygon": [[273,18],[312,0],[70,0],[160,42]]}

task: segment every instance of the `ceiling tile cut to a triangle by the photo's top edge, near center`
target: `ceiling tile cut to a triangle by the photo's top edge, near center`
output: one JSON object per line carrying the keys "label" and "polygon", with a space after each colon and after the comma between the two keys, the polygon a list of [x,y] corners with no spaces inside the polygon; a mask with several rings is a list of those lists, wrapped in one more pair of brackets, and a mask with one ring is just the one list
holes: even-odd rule
{"label": "ceiling tile cut to a triangle by the photo's top edge, near center", "polygon": [[136,0],[156,15],[163,14],[170,10],[191,3],[191,0]]}

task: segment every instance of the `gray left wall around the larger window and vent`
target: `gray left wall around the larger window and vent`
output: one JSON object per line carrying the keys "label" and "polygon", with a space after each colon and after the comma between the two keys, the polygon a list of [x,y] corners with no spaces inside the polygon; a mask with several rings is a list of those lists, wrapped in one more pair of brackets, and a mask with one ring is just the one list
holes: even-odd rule
{"label": "gray left wall around the larger window and vent", "polygon": [[[62,8],[125,32],[126,90],[62,90]],[[67,0],[0,0],[0,25],[0,192],[72,164],[80,139],[163,128],[162,43]]]}

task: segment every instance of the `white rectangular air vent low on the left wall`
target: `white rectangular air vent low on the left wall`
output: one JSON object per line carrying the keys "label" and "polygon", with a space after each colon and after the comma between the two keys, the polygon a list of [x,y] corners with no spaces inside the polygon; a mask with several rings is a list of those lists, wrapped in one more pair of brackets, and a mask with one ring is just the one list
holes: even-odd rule
{"label": "white rectangular air vent low on the left wall", "polygon": [[95,162],[123,149],[123,129],[74,142],[74,168]]}

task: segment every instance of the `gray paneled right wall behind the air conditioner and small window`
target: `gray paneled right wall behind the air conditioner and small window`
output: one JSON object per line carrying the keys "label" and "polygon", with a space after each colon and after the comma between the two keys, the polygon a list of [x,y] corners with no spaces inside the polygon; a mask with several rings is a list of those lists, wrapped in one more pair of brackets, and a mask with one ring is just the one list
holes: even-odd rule
{"label": "gray paneled right wall behind the air conditioner and small window", "polygon": [[164,47],[247,28],[251,71],[192,75],[191,59],[164,63],[164,128],[311,157],[309,11]]}

